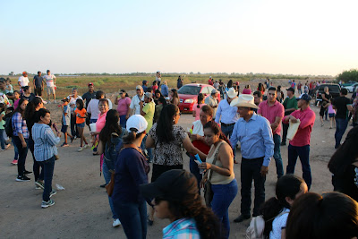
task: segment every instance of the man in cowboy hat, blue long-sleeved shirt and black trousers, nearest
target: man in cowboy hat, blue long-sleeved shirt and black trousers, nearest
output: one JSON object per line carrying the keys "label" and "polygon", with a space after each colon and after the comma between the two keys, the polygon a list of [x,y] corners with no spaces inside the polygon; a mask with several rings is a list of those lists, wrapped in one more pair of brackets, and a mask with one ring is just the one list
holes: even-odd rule
{"label": "man in cowboy hat, blue long-sleeved shirt and black trousers, nearest", "polygon": [[240,119],[234,124],[234,132],[230,138],[234,147],[237,141],[241,143],[243,156],[241,164],[241,215],[234,222],[242,222],[251,218],[251,184],[255,185],[255,201],[253,217],[259,215],[261,204],[265,201],[265,181],[268,165],[274,154],[274,141],[268,120],[253,111],[259,108],[255,105],[253,96],[240,95],[235,98],[231,107],[237,107]]}

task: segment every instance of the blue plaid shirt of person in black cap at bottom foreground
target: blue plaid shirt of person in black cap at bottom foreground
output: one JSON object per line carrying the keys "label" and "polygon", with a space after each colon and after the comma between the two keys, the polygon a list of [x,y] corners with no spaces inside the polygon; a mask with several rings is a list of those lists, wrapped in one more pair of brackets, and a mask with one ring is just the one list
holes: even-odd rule
{"label": "blue plaid shirt of person in black cap at bottom foreground", "polygon": [[200,239],[200,233],[192,218],[181,218],[163,229],[163,239]]}

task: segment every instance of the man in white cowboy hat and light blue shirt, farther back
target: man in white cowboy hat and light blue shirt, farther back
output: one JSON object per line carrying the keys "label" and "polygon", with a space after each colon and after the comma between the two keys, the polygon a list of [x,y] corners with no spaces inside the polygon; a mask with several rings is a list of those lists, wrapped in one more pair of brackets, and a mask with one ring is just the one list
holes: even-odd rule
{"label": "man in white cowboy hat and light blue shirt, farther back", "polygon": [[[217,114],[215,115],[215,122],[217,124],[221,123],[221,131],[224,132],[227,138],[231,137],[234,130],[234,124],[239,119],[237,107],[230,106],[230,103],[234,98],[237,98],[237,92],[234,88],[230,88],[227,91],[227,98],[218,103]],[[236,145],[233,145],[233,149],[235,155]],[[237,164],[236,160],[234,160],[234,163]]]}

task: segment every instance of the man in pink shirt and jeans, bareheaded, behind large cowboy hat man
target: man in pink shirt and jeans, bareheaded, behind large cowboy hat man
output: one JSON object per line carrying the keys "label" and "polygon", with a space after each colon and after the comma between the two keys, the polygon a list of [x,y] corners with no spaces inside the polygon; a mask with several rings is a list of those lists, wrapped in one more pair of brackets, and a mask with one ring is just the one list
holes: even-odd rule
{"label": "man in pink shirt and jeans, bareheaded, behind large cowboy hat man", "polygon": [[273,140],[275,143],[274,158],[276,162],[277,179],[284,175],[284,166],[281,158],[281,121],[285,115],[284,106],[277,100],[277,89],[268,88],[268,99],[262,101],[259,105],[258,114],[268,119],[271,124]]}

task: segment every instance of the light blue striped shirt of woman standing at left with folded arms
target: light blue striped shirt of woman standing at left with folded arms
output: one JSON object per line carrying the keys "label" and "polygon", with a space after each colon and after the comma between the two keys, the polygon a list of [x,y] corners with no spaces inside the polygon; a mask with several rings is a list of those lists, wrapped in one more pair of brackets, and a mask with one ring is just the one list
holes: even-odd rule
{"label": "light blue striped shirt of woman standing at left with folded arms", "polygon": [[55,137],[50,126],[47,124],[35,123],[32,126],[32,139],[35,142],[35,159],[36,161],[46,161],[57,155],[56,144],[60,142],[59,137]]}

